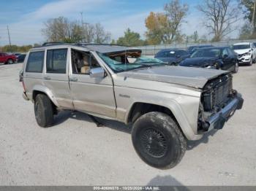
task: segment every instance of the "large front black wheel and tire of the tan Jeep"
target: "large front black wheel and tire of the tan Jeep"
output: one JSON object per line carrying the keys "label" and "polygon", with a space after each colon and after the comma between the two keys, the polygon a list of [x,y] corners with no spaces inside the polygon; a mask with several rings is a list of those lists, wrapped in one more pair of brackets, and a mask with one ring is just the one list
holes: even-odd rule
{"label": "large front black wheel and tire of the tan Jeep", "polygon": [[164,169],[176,166],[187,148],[176,121],[161,112],[143,114],[135,121],[132,144],[145,163]]}

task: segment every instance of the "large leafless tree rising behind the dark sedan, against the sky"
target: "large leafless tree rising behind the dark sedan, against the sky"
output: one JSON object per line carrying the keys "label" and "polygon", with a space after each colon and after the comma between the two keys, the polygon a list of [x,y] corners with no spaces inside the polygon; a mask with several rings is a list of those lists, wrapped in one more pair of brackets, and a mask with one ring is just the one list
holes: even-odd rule
{"label": "large leafless tree rising behind the dark sedan, against the sky", "polygon": [[219,42],[227,34],[236,30],[234,24],[240,19],[240,9],[236,1],[232,0],[204,0],[197,9],[203,12],[210,34],[214,34],[213,41]]}

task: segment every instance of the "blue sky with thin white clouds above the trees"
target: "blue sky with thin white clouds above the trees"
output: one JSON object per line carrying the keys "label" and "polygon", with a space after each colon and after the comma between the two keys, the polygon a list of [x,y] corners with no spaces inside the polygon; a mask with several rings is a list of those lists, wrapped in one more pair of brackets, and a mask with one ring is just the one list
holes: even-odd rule
{"label": "blue sky with thin white clouds above the trees", "polygon": [[[145,19],[149,12],[162,12],[168,0],[0,0],[0,46],[8,44],[7,25],[12,44],[34,44],[45,42],[41,29],[49,18],[64,16],[69,20],[86,23],[101,23],[112,39],[118,39],[126,28],[140,33],[145,38]],[[202,25],[202,15],[195,9],[203,0],[181,0],[189,4],[187,23],[182,26],[183,34],[200,35],[207,31]],[[233,36],[236,35],[232,34]]]}

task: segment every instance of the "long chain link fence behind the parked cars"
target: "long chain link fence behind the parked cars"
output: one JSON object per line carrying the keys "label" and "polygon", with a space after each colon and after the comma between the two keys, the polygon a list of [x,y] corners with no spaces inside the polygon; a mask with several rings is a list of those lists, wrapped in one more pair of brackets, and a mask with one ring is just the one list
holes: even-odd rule
{"label": "long chain link fence behind the parked cars", "polygon": [[162,49],[168,49],[168,48],[176,48],[176,49],[187,49],[187,47],[190,46],[197,46],[197,45],[208,45],[211,44],[216,47],[222,47],[222,46],[230,46],[232,44],[238,43],[238,42],[256,42],[256,39],[250,39],[250,40],[232,40],[232,41],[222,41],[222,42],[208,42],[208,43],[187,43],[187,44],[158,44],[158,45],[146,45],[137,47],[142,50],[143,55],[155,55],[159,50]]}

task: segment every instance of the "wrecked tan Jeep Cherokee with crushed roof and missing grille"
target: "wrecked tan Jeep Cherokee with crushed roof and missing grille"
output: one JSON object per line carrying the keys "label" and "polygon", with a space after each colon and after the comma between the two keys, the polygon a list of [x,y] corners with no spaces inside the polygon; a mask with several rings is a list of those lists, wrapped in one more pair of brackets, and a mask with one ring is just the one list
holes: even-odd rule
{"label": "wrecked tan Jeep Cherokee with crushed roof and missing grille", "polygon": [[187,140],[221,129],[241,109],[229,71],[167,66],[141,50],[108,44],[46,43],[30,50],[23,98],[41,127],[63,109],[132,123],[132,143],[148,165],[172,168]]}

